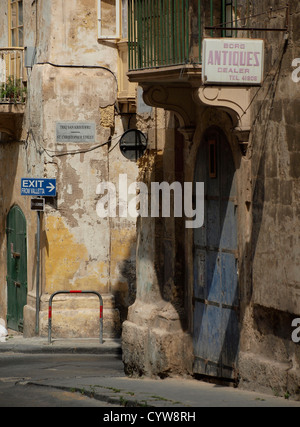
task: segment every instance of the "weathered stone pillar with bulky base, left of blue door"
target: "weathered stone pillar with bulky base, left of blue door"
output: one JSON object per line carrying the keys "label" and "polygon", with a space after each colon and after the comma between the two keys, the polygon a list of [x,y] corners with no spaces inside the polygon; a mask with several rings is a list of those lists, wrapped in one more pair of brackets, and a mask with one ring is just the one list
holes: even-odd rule
{"label": "weathered stone pillar with bulky base, left of blue door", "polygon": [[[183,181],[183,138],[176,126],[172,114],[153,109],[142,127],[149,152],[138,163],[139,180],[148,185],[149,206],[151,183]],[[123,362],[128,374],[163,378],[192,370],[184,310],[183,219],[172,214],[151,218],[150,213],[137,223],[137,294],[123,324]]]}

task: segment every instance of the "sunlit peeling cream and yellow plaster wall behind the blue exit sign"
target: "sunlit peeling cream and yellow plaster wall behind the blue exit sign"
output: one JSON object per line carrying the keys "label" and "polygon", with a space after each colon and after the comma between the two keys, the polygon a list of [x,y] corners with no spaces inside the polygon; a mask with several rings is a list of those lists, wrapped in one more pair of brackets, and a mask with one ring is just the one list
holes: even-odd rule
{"label": "sunlit peeling cream and yellow plaster wall behind the blue exit sign", "polygon": [[[3,2],[0,11],[3,10]],[[7,15],[0,13],[6,24]],[[112,11],[106,17],[114,25]],[[99,183],[119,185],[119,175],[136,180],[136,164],[117,146],[126,130],[115,113],[118,50],[98,41],[96,0],[24,1],[25,46],[36,47],[27,69],[27,102],[19,123],[21,143],[0,146],[11,168],[1,173],[3,198],[1,264],[6,265],[5,221],[19,203],[28,224],[28,296],[24,336],[35,334],[36,213],[30,198],[20,196],[21,177],[56,178],[57,196],[46,199],[41,227],[40,335],[47,334],[48,300],[59,290],[96,290],[104,300],[104,336],[120,335],[121,322],[135,296],[135,219],[100,218]],[[1,46],[6,44],[1,33]],[[92,143],[60,143],[56,123],[92,122]],[[94,147],[98,146],[96,149]],[[75,153],[76,152],[76,153]],[[1,269],[0,317],[6,317],[5,271]],[[53,336],[97,336],[99,301],[93,296],[57,296],[53,302]]]}

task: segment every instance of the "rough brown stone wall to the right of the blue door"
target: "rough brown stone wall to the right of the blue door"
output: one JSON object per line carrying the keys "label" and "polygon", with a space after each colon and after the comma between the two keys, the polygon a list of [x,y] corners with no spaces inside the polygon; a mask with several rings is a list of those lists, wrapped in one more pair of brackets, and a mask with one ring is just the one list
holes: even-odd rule
{"label": "rough brown stone wall to the right of the blue door", "polygon": [[[279,3],[279,4],[277,4]],[[285,6],[277,2],[276,7]],[[269,5],[269,4],[268,4]],[[263,2],[253,12],[265,9]],[[285,25],[286,10],[258,17],[256,26]],[[266,40],[265,82],[253,90],[249,158],[252,164],[251,288],[245,311],[240,374],[244,387],[295,394],[300,353],[292,320],[300,316],[299,89],[292,61],[299,56],[298,2],[290,2],[289,34]]]}

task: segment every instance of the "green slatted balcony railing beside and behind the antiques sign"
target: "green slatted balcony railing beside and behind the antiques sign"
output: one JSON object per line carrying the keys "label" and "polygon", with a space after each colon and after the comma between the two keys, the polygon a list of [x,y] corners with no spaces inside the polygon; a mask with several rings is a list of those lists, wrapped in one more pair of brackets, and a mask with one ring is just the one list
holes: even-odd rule
{"label": "green slatted balcony railing beside and behind the antiques sign", "polygon": [[129,71],[201,64],[203,37],[234,36],[226,27],[236,26],[236,0],[128,0],[128,7]]}

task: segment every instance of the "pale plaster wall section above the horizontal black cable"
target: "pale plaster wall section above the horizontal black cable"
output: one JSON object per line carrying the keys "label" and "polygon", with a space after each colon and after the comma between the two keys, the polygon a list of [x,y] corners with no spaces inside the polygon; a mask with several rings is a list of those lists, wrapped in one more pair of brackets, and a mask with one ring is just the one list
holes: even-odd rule
{"label": "pale plaster wall section above the horizontal black cable", "polygon": [[[97,0],[43,1],[39,9],[38,62],[105,65],[117,70],[117,49],[97,40]],[[115,25],[114,16],[106,24]]]}

